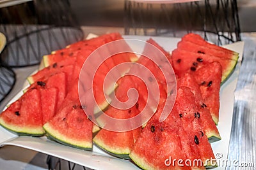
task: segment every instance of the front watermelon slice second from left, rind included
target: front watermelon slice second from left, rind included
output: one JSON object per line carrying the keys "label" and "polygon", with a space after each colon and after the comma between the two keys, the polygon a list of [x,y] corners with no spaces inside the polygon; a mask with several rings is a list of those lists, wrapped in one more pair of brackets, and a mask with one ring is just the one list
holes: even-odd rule
{"label": "front watermelon slice second from left, rind included", "polygon": [[49,139],[63,145],[92,150],[93,123],[87,118],[79,101],[64,101],[65,106],[44,125]]}

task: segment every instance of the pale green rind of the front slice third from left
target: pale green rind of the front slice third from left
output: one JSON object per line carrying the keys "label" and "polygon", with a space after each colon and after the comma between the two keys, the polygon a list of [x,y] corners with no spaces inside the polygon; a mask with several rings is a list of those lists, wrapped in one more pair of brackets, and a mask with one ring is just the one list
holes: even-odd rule
{"label": "pale green rind of the front slice third from left", "polygon": [[104,150],[104,152],[109,153],[109,155],[113,155],[114,157],[118,157],[121,159],[130,159],[130,157],[129,157],[130,150],[129,149],[122,150],[122,151],[118,151],[118,150],[116,150],[116,148],[111,149],[103,141],[100,141],[97,138],[93,138],[93,143],[95,143],[95,145],[99,146],[100,149]]}

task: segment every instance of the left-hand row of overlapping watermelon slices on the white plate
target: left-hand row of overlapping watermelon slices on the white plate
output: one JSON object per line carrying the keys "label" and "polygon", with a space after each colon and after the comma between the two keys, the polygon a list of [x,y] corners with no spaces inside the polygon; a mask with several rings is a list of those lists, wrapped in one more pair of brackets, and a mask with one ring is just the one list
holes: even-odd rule
{"label": "left-hand row of overlapping watermelon slices on the white plate", "polygon": [[[45,55],[44,68],[28,77],[30,86],[20,99],[1,113],[0,124],[18,135],[44,136],[46,132],[49,138],[65,145],[92,150],[92,132],[99,131],[99,127],[93,126],[80,104],[79,73],[93,50],[119,39],[122,39],[119,33],[105,34]],[[93,80],[100,109],[108,106],[100,89],[102,78],[117,64],[134,60],[137,56],[133,53],[116,54],[101,64]],[[63,129],[67,131],[63,132]],[[81,131],[86,132],[82,135]]]}

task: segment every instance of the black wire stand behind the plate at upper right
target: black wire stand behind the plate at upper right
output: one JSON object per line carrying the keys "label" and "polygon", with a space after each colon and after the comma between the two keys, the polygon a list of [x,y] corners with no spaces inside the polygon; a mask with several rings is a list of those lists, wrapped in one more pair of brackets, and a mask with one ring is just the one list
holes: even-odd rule
{"label": "black wire stand behind the plate at upper right", "polygon": [[143,3],[125,0],[125,34],[181,37],[188,32],[201,34],[217,45],[241,40],[237,1]]}

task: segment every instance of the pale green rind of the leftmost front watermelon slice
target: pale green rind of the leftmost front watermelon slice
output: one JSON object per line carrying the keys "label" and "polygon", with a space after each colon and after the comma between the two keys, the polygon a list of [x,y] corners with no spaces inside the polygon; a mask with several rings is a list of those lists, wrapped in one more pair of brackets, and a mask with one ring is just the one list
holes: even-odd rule
{"label": "pale green rind of the leftmost front watermelon slice", "polygon": [[3,118],[0,118],[0,125],[9,132],[17,134],[19,136],[33,136],[40,137],[44,136],[45,131],[42,127],[20,127],[15,125],[7,124]]}

